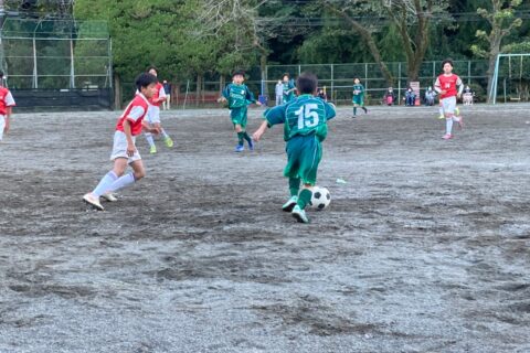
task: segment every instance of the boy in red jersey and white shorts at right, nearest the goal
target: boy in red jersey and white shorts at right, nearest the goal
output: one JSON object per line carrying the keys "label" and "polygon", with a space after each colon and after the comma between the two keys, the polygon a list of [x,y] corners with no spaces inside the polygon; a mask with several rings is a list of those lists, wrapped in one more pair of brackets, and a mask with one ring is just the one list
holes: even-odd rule
{"label": "boy in red jersey and white shorts at right, nearest the goal", "polygon": [[[445,135],[442,138],[448,140],[453,138],[453,121],[458,122],[460,128],[464,127],[463,118],[455,116],[456,97],[459,98],[462,96],[464,85],[460,77],[453,74],[452,60],[444,60],[442,68],[444,73],[436,78],[434,89],[439,94],[439,104],[445,117]],[[456,90],[457,86],[458,90]]]}

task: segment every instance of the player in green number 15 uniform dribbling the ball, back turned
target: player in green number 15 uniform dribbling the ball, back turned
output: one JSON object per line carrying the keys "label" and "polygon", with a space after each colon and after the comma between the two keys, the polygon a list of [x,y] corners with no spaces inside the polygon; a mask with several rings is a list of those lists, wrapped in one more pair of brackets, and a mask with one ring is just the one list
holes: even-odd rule
{"label": "player in green number 15 uniform dribbling the ball, back turned", "polygon": [[304,208],[310,202],[311,189],[317,182],[318,164],[322,158],[321,142],[328,133],[327,121],[336,115],[332,104],[315,97],[317,85],[317,76],[301,74],[296,81],[299,96],[285,105],[267,109],[264,114],[265,121],[253,135],[254,140],[259,141],[267,128],[284,125],[284,140],[287,145],[284,175],[289,179],[290,199],[282,208],[292,212],[303,223],[309,222]]}

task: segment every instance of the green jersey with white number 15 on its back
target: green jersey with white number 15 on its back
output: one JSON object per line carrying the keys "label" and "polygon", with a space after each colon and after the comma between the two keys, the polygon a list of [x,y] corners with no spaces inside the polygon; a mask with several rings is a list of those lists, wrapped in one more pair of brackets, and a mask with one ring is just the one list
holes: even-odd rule
{"label": "green jersey with white number 15 on its back", "polygon": [[320,141],[328,135],[327,121],[336,115],[335,106],[312,95],[301,95],[296,99],[265,111],[269,126],[284,124],[284,140],[295,136],[315,133]]}

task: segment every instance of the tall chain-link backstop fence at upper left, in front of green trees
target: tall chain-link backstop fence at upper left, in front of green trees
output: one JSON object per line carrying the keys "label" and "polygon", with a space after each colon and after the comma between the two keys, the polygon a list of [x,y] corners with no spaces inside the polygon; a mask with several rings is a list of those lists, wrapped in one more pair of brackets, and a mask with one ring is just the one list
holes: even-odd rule
{"label": "tall chain-link backstop fence at upper left, in front of green trees", "polygon": [[[0,65],[6,84],[13,92],[21,92],[19,96],[31,97],[24,94],[29,90],[56,92],[57,106],[65,106],[68,104],[60,101],[61,96],[72,97],[77,90],[102,90],[109,95],[102,104],[112,100],[112,44],[106,22],[2,20]],[[83,105],[82,98],[76,101]],[[40,104],[28,101],[29,106]]]}

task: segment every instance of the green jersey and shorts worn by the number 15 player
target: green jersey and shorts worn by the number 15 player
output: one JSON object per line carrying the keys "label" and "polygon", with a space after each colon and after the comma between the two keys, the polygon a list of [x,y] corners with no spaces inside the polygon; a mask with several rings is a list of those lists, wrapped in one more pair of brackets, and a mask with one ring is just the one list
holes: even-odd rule
{"label": "green jersey and shorts worn by the number 15 player", "polygon": [[265,111],[268,126],[284,125],[284,140],[287,142],[284,175],[289,178],[292,195],[298,193],[300,181],[315,185],[322,158],[321,142],[328,135],[327,121],[335,115],[333,105],[312,95],[301,95]]}

